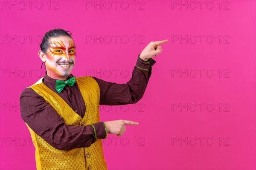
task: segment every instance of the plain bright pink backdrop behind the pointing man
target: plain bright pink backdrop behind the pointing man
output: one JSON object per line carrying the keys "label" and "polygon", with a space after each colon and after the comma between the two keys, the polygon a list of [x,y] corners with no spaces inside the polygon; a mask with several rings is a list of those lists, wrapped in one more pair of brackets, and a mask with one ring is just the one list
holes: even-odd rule
{"label": "plain bright pink backdrop behind the pointing man", "polygon": [[[15,6],[9,9],[9,1],[5,2],[8,5],[1,2],[0,15],[1,169],[36,168],[35,147],[20,117],[19,97],[24,88],[44,73],[43,69],[35,73],[41,67],[39,41],[54,28],[73,34],[77,47],[73,75],[91,75],[120,84],[131,78],[138,54],[150,41],[169,40],[162,45],[163,52],[154,57],[157,63],[143,98],[137,104],[128,105],[128,111],[125,111],[127,106],[118,106],[116,110],[114,106],[104,106],[101,111],[101,121],[128,119],[140,123],[127,125],[126,133],[118,137],[116,143],[116,136],[108,135],[110,139],[105,141],[104,153],[110,170],[256,169],[254,0],[221,1],[221,9],[219,1],[211,1],[208,8],[205,1],[202,9],[198,3],[194,10],[192,3],[186,10],[184,6],[181,9],[172,6],[180,1],[168,0],[136,1],[135,10],[134,1],[125,1],[129,5],[127,10],[123,9],[125,2],[123,8],[120,7],[122,1],[116,9],[112,6],[109,10],[106,9],[109,4],[94,9],[86,5],[89,1],[82,0],[51,1],[50,9],[48,1],[40,1],[44,5],[41,10],[35,8],[37,1],[31,9],[29,4],[22,9],[19,1],[12,1],[17,3],[17,9]],[[212,3],[214,8],[210,10]],[[37,5],[40,7],[40,4]],[[53,10],[54,6],[58,9]],[[140,6],[144,9],[138,10]],[[224,10],[225,6],[229,9]],[[9,42],[9,36],[15,39],[15,35],[17,43]],[[37,35],[40,37],[35,40]],[[99,40],[87,43],[87,35],[102,35],[106,39],[102,43]],[[119,35],[119,38],[116,43],[114,39],[107,43],[106,35]],[[129,38],[128,43],[120,41],[123,35]],[[191,40],[172,43],[175,35],[188,35]],[[192,43],[193,35],[204,35],[202,43],[199,38]],[[213,43],[206,41],[207,35],[214,37]],[[33,36],[31,42],[29,36]],[[32,69],[31,75],[28,69]],[[105,74],[87,74],[91,69],[98,72],[102,69]],[[119,69],[116,77],[112,69]],[[121,74],[123,69],[128,70],[128,77],[126,72]],[[172,72],[186,69],[190,71],[188,77]],[[198,69],[204,69],[202,77]],[[214,72],[211,78],[211,72],[206,75],[208,69]],[[108,76],[110,70],[112,75]],[[193,77],[195,70],[198,75]],[[187,103],[188,111],[174,108],[175,103],[182,106]],[[193,103],[198,106],[196,111],[192,111]],[[204,103],[202,111],[198,103]],[[205,108],[207,103],[214,106],[213,111]],[[188,144],[180,143],[180,137],[183,141],[187,138]]]}

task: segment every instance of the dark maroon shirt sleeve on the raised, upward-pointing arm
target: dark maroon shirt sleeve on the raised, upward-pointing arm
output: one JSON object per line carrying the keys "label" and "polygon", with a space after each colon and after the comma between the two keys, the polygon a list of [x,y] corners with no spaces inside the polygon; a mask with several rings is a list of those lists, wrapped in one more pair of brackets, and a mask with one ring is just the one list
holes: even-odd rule
{"label": "dark maroon shirt sleeve on the raised, upward-pointing arm", "polygon": [[100,88],[100,105],[127,105],[137,103],[144,95],[148,80],[151,77],[154,59],[144,61],[137,58],[131,79],[125,84],[107,82],[93,77]]}

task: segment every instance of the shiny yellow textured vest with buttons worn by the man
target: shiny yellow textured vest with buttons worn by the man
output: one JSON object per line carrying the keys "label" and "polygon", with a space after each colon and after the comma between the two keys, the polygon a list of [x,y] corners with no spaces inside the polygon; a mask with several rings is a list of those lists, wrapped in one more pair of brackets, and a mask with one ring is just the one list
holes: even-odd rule
{"label": "shiny yellow textured vest with buttons worn by the man", "polygon": [[[76,77],[86,106],[85,116],[81,118],[54,91],[42,82],[44,77],[30,86],[42,96],[64,119],[65,124],[86,126],[99,122],[99,85],[92,77]],[[27,124],[26,124],[27,125]],[[38,136],[30,127],[30,134],[35,146],[37,170],[107,170],[103,154],[102,139],[97,139],[90,147],[80,147],[71,150],[58,150]]]}

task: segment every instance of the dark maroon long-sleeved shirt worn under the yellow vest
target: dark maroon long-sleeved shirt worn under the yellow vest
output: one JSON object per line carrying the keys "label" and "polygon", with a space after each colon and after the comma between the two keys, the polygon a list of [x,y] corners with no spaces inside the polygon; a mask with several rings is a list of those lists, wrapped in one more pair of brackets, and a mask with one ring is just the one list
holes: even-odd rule
{"label": "dark maroon long-sleeved shirt worn under the yellow vest", "polygon": [[[137,103],[145,92],[151,76],[152,66],[156,61],[149,59],[147,62],[137,58],[131,79],[126,84],[106,82],[93,77],[100,88],[100,105],[127,105]],[[67,79],[73,77],[70,74]],[[66,85],[61,93],[55,89],[56,79],[47,75],[43,83],[58,94],[81,117],[84,117],[85,103],[77,83],[69,87]],[[20,95],[21,117],[29,127],[41,138],[56,149],[70,150],[78,147],[90,147],[96,142],[93,127],[66,125],[63,118],[49,105],[42,96],[32,88],[25,88]],[[105,127],[102,122],[93,124],[96,129],[97,139],[106,137]]]}

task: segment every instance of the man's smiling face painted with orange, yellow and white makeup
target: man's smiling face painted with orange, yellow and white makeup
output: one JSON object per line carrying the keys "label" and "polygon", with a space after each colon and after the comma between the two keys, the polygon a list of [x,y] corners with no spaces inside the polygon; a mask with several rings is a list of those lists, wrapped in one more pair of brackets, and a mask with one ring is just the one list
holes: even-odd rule
{"label": "man's smiling face painted with orange, yellow and white makeup", "polygon": [[75,44],[70,37],[55,37],[50,39],[47,50],[47,75],[54,79],[66,79],[75,66]]}

